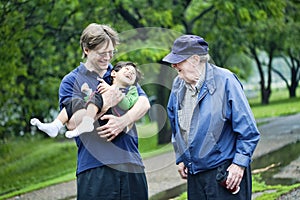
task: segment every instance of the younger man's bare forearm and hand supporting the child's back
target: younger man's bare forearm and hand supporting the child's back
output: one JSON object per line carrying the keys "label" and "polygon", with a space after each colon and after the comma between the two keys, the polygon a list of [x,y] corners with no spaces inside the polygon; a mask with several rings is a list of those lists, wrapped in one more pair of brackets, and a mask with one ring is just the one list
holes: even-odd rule
{"label": "younger man's bare forearm and hand supporting the child's back", "polygon": [[98,127],[98,134],[112,141],[119,135],[128,125],[141,119],[150,109],[150,103],[146,96],[139,96],[134,106],[127,113],[120,117],[114,115],[104,115],[101,120],[108,120],[107,124]]}

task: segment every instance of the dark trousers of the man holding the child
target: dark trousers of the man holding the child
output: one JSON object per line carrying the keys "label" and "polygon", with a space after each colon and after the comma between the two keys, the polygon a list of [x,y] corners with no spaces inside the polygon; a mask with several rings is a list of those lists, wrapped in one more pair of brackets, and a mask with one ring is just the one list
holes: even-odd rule
{"label": "dark trousers of the man holding the child", "polygon": [[102,166],[77,175],[78,200],[147,200],[144,170],[135,165]]}

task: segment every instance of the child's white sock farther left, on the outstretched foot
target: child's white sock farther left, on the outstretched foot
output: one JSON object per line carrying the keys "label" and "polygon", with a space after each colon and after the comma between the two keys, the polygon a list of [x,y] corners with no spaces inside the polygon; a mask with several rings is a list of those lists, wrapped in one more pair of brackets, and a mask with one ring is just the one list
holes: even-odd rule
{"label": "child's white sock farther left, on the outstretched foot", "polygon": [[38,129],[47,133],[50,137],[56,137],[59,130],[64,126],[58,119],[51,123],[42,123],[37,118],[33,118],[30,120],[30,123],[33,126],[37,126]]}

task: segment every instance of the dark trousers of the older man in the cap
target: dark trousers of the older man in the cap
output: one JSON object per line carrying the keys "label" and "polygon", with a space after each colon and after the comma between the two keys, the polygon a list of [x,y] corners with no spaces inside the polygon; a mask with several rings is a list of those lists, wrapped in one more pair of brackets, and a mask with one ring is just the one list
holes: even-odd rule
{"label": "dark trousers of the older man in the cap", "polygon": [[[225,162],[219,167],[227,169],[231,162]],[[188,199],[189,200],[251,200],[252,180],[251,169],[246,168],[240,184],[240,191],[232,194],[225,187],[216,181],[218,168],[200,172],[197,174],[188,174]]]}

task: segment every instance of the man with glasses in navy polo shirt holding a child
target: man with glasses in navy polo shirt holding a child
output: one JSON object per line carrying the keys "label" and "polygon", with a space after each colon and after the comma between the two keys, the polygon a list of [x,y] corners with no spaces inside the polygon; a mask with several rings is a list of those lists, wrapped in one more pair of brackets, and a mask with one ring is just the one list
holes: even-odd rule
{"label": "man with glasses in navy polo shirt holding a child", "polygon": [[[111,84],[112,59],[118,43],[117,33],[100,24],[88,25],[80,37],[85,62],[67,74],[60,85],[60,108],[66,108],[69,118],[85,109],[85,94],[81,86],[87,83],[97,90],[98,78]],[[139,98],[134,106],[120,116],[105,114],[95,123],[92,132],[75,137],[77,155],[77,199],[148,199],[144,166],[138,151],[135,125],[126,134],[120,134],[130,124],[139,120],[150,108],[145,92],[138,85]],[[101,95],[101,112],[117,105],[122,93],[110,86]]]}

